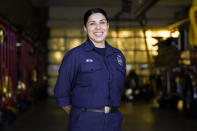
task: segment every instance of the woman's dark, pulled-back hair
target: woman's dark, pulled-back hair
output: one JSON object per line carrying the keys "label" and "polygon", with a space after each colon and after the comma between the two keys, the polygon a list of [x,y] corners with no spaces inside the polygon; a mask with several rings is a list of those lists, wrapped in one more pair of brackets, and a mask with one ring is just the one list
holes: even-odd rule
{"label": "woman's dark, pulled-back hair", "polygon": [[105,16],[107,22],[108,22],[108,17],[107,17],[107,13],[101,9],[101,8],[92,8],[92,9],[89,9],[85,14],[84,14],[84,17],[83,17],[83,22],[84,22],[84,26],[86,26],[86,23],[88,21],[88,18],[94,14],[94,13],[101,13]]}

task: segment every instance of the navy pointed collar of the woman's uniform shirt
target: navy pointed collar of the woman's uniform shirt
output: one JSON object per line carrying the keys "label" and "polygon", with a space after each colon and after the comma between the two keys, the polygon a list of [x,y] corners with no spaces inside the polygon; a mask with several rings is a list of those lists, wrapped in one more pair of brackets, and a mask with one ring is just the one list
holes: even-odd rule
{"label": "navy pointed collar of the woman's uniform shirt", "polygon": [[[118,52],[118,50],[113,48],[111,45],[109,45],[107,41],[105,41],[105,48],[106,48],[106,52],[105,52],[106,56],[111,55],[114,52]],[[92,43],[90,39],[87,39],[87,41],[85,42],[85,50],[92,51],[94,49],[95,49],[95,45]]]}

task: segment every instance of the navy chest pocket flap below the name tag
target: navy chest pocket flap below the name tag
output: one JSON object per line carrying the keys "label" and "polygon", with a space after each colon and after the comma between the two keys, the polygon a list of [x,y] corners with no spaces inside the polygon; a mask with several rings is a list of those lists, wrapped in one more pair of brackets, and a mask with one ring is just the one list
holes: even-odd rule
{"label": "navy chest pocket flap below the name tag", "polygon": [[101,70],[103,67],[101,65],[95,63],[83,63],[81,65],[81,72],[84,73],[91,73]]}

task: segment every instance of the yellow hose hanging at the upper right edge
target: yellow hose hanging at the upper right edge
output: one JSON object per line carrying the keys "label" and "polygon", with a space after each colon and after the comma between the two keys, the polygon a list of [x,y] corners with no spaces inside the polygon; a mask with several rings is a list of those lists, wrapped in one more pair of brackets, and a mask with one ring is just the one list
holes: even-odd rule
{"label": "yellow hose hanging at the upper right edge", "polygon": [[197,0],[193,0],[192,7],[189,10],[189,44],[191,46],[197,46],[197,20],[196,20],[196,12],[197,12]]}

